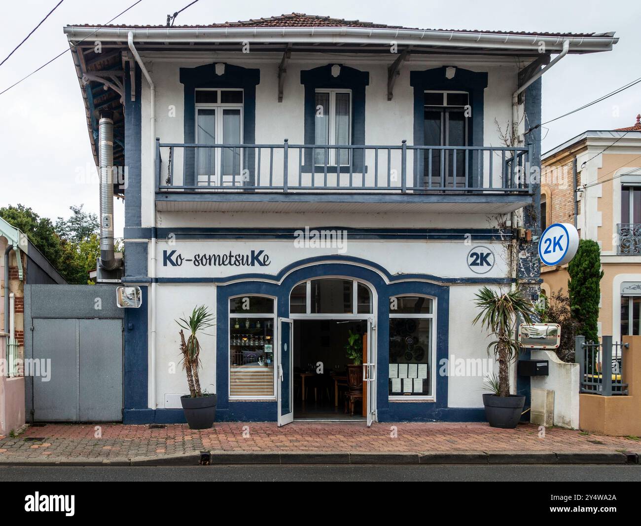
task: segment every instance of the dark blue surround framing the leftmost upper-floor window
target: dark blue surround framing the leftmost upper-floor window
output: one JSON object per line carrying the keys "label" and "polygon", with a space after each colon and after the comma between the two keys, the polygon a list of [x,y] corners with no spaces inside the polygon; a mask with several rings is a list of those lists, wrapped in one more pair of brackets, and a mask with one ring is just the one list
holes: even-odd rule
{"label": "dark blue surround framing the leftmost upper-floor window", "polygon": [[[215,64],[181,67],[180,82],[185,91],[185,142],[196,142],[196,88],[239,88],[243,90],[243,144],[256,144],[256,85],[260,69],[248,69],[225,63],[225,72],[217,75]],[[245,150],[244,166],[249,170],[248,185],[254,183],[254,149]],[[195,178],[194,151],[185,152],[185,185]]]}

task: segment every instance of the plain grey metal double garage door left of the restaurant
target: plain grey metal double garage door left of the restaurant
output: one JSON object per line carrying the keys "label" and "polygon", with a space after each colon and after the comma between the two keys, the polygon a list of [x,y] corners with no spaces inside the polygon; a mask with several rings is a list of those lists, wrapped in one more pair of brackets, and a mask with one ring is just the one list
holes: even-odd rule
{"label": "plain grey metal double garage door left of the restaurant", "polygon": [[122,320],[34,318],[33,358],[33,420],[122,421]]}

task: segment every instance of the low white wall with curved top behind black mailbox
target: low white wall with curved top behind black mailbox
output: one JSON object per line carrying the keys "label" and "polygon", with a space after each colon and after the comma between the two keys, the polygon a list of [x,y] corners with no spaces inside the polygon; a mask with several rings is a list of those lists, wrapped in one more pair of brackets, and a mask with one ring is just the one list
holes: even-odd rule
{"label": "low white wall with curved top behind black mailbox", "polygon": [[533,360],[547,360],[549,375],[531,377],[532,389],[554,391],[553,425],[577,429],[579,427],[579,364],[559,359],[553,351],[533,350]]}

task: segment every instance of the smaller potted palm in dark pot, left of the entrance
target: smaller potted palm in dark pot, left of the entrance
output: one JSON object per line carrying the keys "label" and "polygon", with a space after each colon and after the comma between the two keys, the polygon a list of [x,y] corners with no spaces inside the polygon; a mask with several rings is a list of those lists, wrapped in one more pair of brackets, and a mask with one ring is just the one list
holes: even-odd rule
{"label": "smaller potted palm in dark pot, left of the entrance", "polygon": [[[180,402],[183,405],[190,429],[208,429],[212,427],[216,418],[216,395],[204,393],[200,386],[198,369],[201,365],[201,346],[197,337],[199,332],[212,327],[214,320],[213,314],[204,305],[195,307],[188,318],[176,320],[176,323],[181,327],[179,332],[181,362],[185,373],[187,373],[187,386],[189,387],[189,394],[183,394],[180,397]],[[188,331],[186,340],[183,329]],[[203,332],[203,334],[206,333]]]}

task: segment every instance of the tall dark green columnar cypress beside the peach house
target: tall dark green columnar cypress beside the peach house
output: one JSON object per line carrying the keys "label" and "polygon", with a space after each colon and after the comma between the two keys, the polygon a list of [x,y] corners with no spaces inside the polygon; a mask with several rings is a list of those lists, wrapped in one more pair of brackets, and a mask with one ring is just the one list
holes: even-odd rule
{"label": "tall dark green columnar cypress beside the peach house", "polygon": [[599,300],[601,298],[601,249],[596,241],[581,239],[574,259],[568,266],[568,291],[572,318],[578,321],[578,334],[587,341],[597,341]]}

